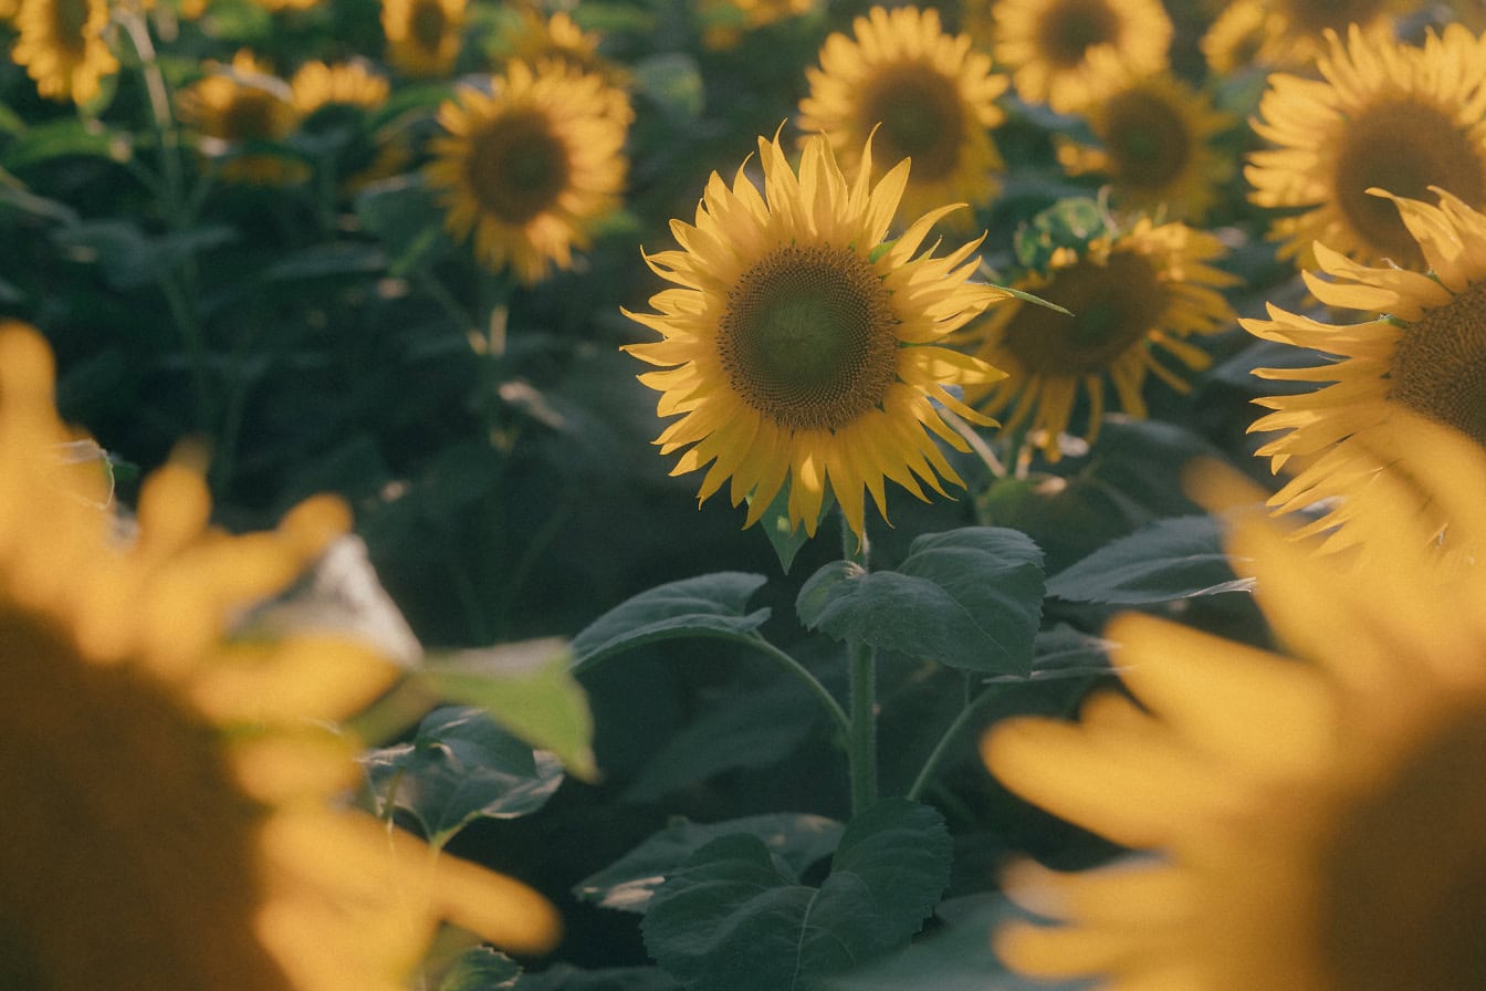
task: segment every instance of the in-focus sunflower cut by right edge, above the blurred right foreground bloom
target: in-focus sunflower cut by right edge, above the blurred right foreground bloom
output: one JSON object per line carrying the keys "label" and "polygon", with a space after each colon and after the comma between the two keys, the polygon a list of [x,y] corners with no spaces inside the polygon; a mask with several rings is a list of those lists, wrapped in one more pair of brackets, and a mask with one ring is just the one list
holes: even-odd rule
{"label": "in-focus sunflower cut by right edge, above the blurred right foreground bloom", "polygon": [[[1262,379],[1306,382],[1317,388],[1257,400],[1272,413],[1251,431],[1284,431],[1259,449],[1275,471],[1300,462],[1274,495],[1278,511],[1333,501],[1309,535],[1331,527],[1328,545],[1355,542],[1351,520],[1355,493],[1372,484],[1376,467],[1369,435],[1400,409],[1461,431],[1486,449],[1486,215],[1443,190],[1438,207],[1413,199],[1379,199],[1397,209],[1424,256],[1421,272],[1367,267],[1318,244],[1323,279],[1305,273],[1311,293],[1328,306],[1380,313],[1361,324],[1336,325],[1269,308],[1269,319],[1239,321],[1248,333],[1334,360],[1303,368],[1256,368]],[[1422,269],[1428,269],[1428,275]],[[1447,523],[1421,495],[1416,513]]]}

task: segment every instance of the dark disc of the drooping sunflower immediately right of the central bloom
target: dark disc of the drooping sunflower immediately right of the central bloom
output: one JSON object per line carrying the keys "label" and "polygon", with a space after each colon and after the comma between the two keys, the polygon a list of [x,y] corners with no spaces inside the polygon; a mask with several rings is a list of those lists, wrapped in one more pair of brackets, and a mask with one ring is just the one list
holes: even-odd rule
{"label": "dark disc of the drooping sunflower immediately right of the central bloom", "polygon": [[1150,263],[1128,251],[1106,264],[1079,261],[1060,269],[1037,296],[1073,316],[1022,303],[1006,330],[1006,348],[1030,374],[1079,376],[1106,371],[1110,363],[1156,327],[1167,290]]}

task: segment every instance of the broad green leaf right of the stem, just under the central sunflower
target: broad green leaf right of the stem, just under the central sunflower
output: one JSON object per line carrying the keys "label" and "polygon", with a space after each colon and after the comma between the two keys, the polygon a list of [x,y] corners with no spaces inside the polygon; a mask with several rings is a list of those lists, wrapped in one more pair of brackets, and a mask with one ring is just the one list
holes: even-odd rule
{"label": "broad green leaf right of the stem, just under the central sunflower", "polygon": [[970,526],[920,536],[896,571],[826,565],[795,606],[801,623],[838,640],[1025,675],[1042,597],[1037,545],[1016,530]]}

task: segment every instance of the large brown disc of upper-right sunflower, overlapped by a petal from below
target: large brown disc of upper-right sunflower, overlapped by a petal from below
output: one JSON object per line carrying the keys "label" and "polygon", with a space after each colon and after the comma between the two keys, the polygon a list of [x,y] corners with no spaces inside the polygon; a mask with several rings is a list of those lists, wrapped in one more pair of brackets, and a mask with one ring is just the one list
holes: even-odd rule
{"label": "large brown disc of upper-right sunflower, overlapped by a petal from below", "polygon": [[1419,267],[1424,256],[1398,218],[1398,208],[1370,187],[1395,196],[1433,201],[1430,186],[1467,204],[1486,199],[1486,162],[1450,117],[1428,104],[1401,101],[1372,107],[1346,128],[1336,157],[1336,196],[1346,220],[1386,257]]}

